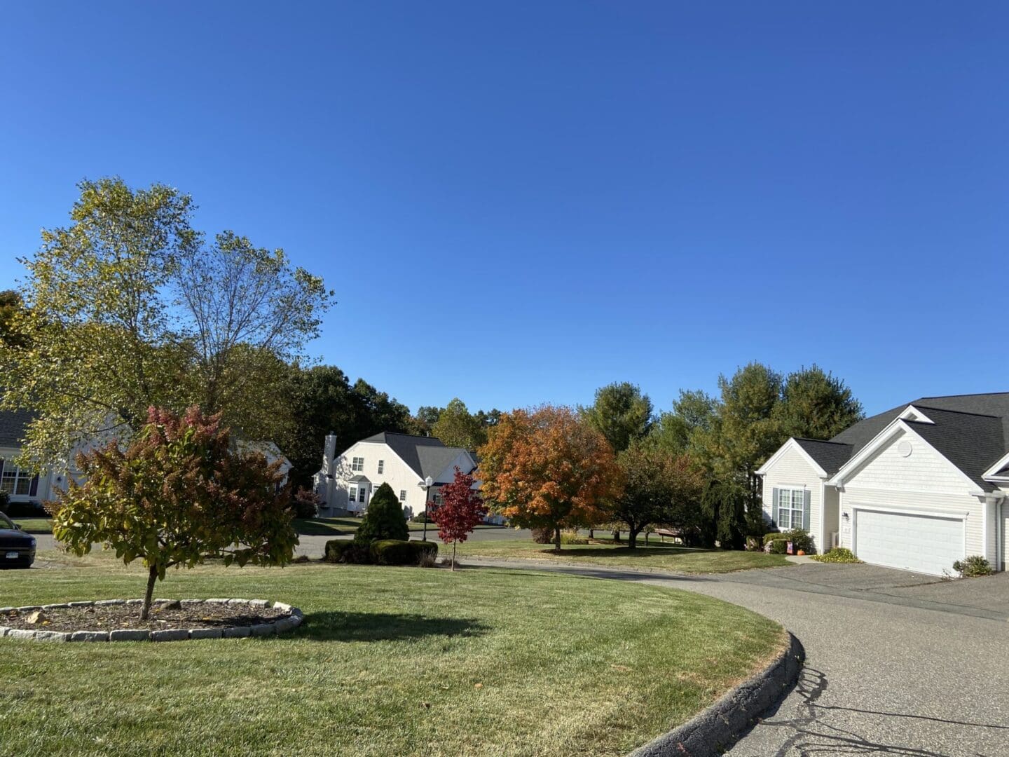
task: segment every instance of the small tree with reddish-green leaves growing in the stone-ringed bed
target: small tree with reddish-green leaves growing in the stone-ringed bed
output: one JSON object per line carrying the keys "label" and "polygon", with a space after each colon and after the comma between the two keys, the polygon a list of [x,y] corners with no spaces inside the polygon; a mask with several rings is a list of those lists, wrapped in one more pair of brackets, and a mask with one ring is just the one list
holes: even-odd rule
{"label": "small tree with reddish-green leaves growing in the stone-ringed bed", "polygon": [[170,567],[193,567],[210,557],[225,565],[284,565],[298,536],[281,462],[230,444],[220,415],[191,408],[178,418],[150,408],[147,423],[125,451],[115,442],[82,452],[84,484],[47,508],[52,535],[78,555],[101,543],[126,564],[142,559],[147,619],[155,580]]}

